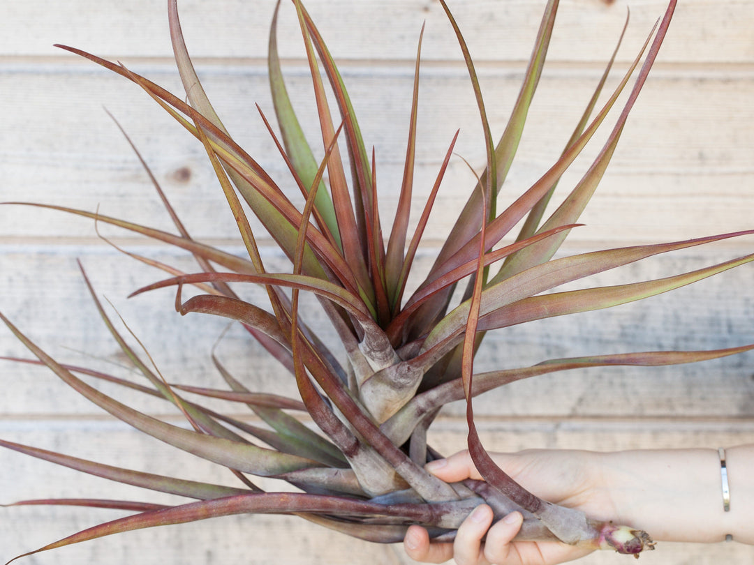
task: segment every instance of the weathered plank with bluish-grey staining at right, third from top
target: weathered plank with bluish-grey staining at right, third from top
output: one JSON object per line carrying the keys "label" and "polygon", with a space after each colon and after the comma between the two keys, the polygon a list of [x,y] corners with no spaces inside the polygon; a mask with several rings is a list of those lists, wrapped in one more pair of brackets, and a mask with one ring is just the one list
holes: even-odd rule
{"label": "weathered plank with bluish-grey staining at right, third from top", "polygon": [[[32,255],[35,260],[30,261],[23,258],[21,251],[0,254],[0,270],[13,273],[8,282],[9,290],[3,297],[6,315],[41,347],[61,359],[74,365],[95,364],[103,370],[127,375],[110,365],[122,364],[123,355],[100,322],[75,261],[66,255],[48,252],[38,252]],[[225,328],[224,320],[199,314],[182,318],[171,312],[172,289],[125,300],[134,289],[164,275],[139,267],[130,258],[109,249],[80,248],[78,252],[98,295],[104,294],[113,301],[168,380],[222,386],[210,354]],[[594,276],[588,284],[583,282],[579,286],[661,278],[735,255],[735,249],[692,250]],[[190,258],[176,258],[167,253],[155,255],[155,258],[187,271],[195,268]],[[423,255],[418,268],[426,267],[429,260],[431,255]],[[14,267],[21,262],[26,270]],[[273,270],[275,265],[275,261],[270,261],[269,269]],[[486,337],[477,371],[601,353],[705,350],[744,345],[752,341],[750,320],[754,316],[754,297],[749,292],[750,280],[751,268],[744,266],[643,303],[492,331]],[[264,304],[259,289],[237,288],[243,295],[256,296],[254,299]],[[741,290],[733,293],[730,289]],[[117,315],[111,308],[108,310],[117,322]],[[317,334],[326,337],[333,352],[342,358],[342,350],[331,338],[329,323],[317,311],[317,307],[303,310],[305,320]],[[127,330],[121,327],[121,331],[129,337]],[[138,348],[133,339],[130,341]],[[5,330],[0,334],[0,353],[28,356],[23,346]],[[260,348],[240,328],[223,339],[218,355],[228,369],[251,388],[296,396],[293,378],[277,362],[265,359]],[[98,362],[97,358],[105,363]],[[746,353],[682,368],[593,368],[538,377],[484,395],[477,402],[477,414],[491,417],[751,417],[754,414],[751,359],[752,353]],[[0,397],[0,414],[52,414],[61,409],[67,414],[100,413],[87,402],[76,399],[74,392],[61,391],[63,385],[56,383],[56,377],[38,368],[4,363],[0,382],[11,389],[18,387],[13,395]],[[541,393],[543,387],[549,392],[547,395]],[[128,395],[117,388],[110,390],[115,390],[118,398],[135,399],[144,410],[167,410],[164,402],[145,403],[142,395]],[[65,395],[66,402],[61,402],[61,394]],[[452,413],[462,412],[462,407],[451,410]]]}

